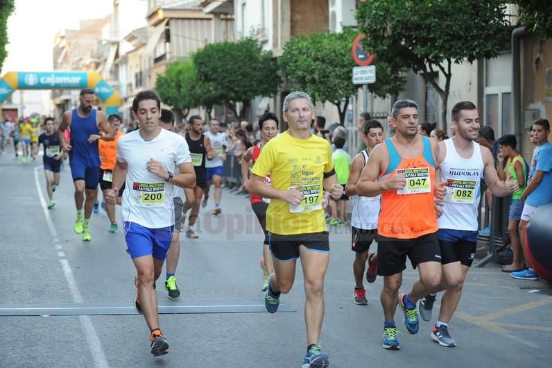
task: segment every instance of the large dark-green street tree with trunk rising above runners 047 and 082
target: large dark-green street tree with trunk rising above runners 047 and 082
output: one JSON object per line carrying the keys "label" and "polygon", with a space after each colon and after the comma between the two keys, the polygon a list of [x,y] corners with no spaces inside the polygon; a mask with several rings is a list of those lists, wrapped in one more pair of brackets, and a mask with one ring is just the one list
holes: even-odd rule
{"label": "large dark-green street tree with trunk rising above runners 047 and 082", "polygon": [[[503,0],[370,0],[356,12],[365,49],[419,72],[442,102],[447,128],[452,64],[495,58],[508,40]],[[445,85],[438,81],[438,71]]]}

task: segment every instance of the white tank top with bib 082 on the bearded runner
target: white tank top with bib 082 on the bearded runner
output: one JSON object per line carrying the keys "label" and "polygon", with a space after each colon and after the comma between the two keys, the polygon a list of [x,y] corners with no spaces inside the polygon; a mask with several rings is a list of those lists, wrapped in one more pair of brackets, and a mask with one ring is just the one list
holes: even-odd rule
{"label": "white tank top with bib 082 on the bearded runner", "polygon": [[483,158],[476,142],[471,158],[458,155],[452,138],[445,140],[447,154],[440,164],[441,180],[447,186],[439,228],[477,231],[477,210],[481,199]]}

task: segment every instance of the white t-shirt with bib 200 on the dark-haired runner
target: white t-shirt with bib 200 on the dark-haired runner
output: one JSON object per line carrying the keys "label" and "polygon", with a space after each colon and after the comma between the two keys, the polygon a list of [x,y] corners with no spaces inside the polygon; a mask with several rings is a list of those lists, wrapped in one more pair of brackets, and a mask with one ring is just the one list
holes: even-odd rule
{"label": "white t-shirt with bib 200 on the dark-haired runner", "polygon": [[191,162],[184,137],[170,131],[161,129],[161,133],[150,141],[142,139],[140,131],[119,138],[117,160],[128,165],[121,205],[123,221],[132,221],[146,228],[172,226],[174,185],[147,171],[150,158],[161,162],[167,171],[175,165]]}

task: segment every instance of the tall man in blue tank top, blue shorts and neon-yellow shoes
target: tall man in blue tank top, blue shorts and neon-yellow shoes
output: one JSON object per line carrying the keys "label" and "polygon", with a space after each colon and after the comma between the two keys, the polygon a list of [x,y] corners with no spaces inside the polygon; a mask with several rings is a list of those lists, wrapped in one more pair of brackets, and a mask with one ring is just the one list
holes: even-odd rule
{"label": "tall man in blue tank top, blue shorts and neon-yellow shoes", "polygon": [[[83,234],[83,240],[92,240],[88,231],[88,222],[96,200],[96,187],[98,187],[100,175],[98,139],[114,140],[116,132],[112,131],[110,124],[107,123],[105,114],[92,108],[93,90],[88,88],[81,90],[79,101],[78,108],[63,113],[58,136],[63,151],[69,152],[69,166],[75,185],[77,219],[73,229],[75,233]],[[69,126],[71,126],[70,143],[65,141],[64,135],[65,129]]]}

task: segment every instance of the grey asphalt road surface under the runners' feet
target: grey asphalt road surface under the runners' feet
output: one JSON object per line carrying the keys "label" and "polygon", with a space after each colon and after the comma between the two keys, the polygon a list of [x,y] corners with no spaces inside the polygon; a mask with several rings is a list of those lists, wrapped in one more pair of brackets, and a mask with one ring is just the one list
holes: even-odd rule
{"label": "grey asphalt road surface under the runners' feet", "polygon": [[[300,367],[302,275],[297,272],[293,290],[282,297],[295,312],[262,311],[263,237],[243,194],[223,190],[223,215],[209,215],[211,201],[200,212],[200,238],[182,237],[176,274],[182,297],[167,299],[157,282],[159,304],[184,313],[160,316],[171,348],[153,358],[144,319],[132,310],[135,268],[121,226],[108,233],[101,211],[92,217],[92,242],[83,242],[72,231],[69,168],[62,171],[55,210],[46,210],[42,158],[23,164],[12,147],[8,152],[0,155],[0,367]],[[449,325],[456,348],[432,342],[429,322],[421,322],[417,335],[406,333],[398,309],[401,350],[382,349],[382,280],[365,284],[368,306],[354,305],[350,229],[330,228],[330,234],[321,343],[332,367],[550,366],[551,285],[514,280],[498,265],[469,272]],[[402,290],[416,278],[416,271],[405,271]],[[191,306],[197,308],[186,312]],[[228,312],[229,306],[249,312]],[[104,315],[87,315],[98,310]],[[58,315],[63,312],[72,315]]]}

